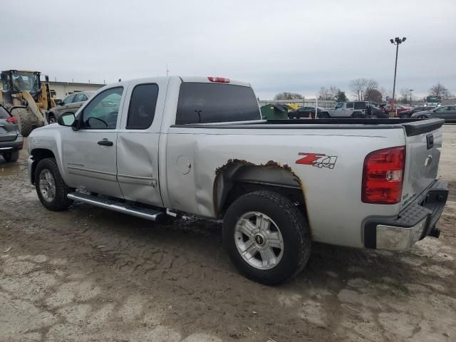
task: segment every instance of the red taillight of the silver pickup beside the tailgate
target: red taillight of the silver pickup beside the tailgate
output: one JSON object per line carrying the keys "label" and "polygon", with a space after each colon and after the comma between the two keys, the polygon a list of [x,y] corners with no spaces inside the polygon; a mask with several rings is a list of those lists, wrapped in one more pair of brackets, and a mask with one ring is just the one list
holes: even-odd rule
{"label": "red taillight of the silver pickup beside the tailgate", "polygon": [[364,160],[361,200],[373,204],[399,203],[404,167],[405,146],[369,153]]}

